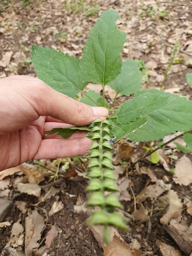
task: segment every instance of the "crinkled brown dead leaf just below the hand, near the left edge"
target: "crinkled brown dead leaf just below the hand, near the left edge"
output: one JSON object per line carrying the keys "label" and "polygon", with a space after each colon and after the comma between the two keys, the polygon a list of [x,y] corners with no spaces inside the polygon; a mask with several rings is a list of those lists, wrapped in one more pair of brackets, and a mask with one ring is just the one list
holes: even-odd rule
{"label": "crinkled brown dead leaf just below the hand, near the left edge", "polygon": [[27,176],[28,182],[31,184],[39,184],[41,181],[45,180],[45,177],[39,172],[39,170],[23,167],[21,167],[21,170]]}

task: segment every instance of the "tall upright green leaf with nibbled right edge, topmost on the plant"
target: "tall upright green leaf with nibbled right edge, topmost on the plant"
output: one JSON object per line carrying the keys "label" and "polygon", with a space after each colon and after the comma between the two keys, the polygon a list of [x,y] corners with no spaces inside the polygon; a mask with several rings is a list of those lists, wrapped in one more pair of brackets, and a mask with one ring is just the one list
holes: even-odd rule
{"label": "tall upright green leaf with nibbled right edge, topmost on the plant", "polygon": [[82,81],[104,86],[120,74],[120,52],[126,41],[126,34],[117,28],[118,18],[118,13],[110,8],[101,14],[91,30],[80,63],[79,76]]}

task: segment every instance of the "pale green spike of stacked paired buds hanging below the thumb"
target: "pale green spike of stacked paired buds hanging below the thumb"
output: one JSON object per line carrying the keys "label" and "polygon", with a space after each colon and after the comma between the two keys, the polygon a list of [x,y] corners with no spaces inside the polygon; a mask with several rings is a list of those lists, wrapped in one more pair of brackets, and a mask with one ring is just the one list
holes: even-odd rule
{"label": "pale green spike of stacked paired buds hanging below the thumb", "polygon": [[114,151],[111,146],[111,138],[114,136],[110,131],[111,125],[108,120],[101,122],[100,118],[97,118],[90,127],[92,132],[86,136],[93,140],[88,150],[91,160],[87,169],[87,177],[91,180],[87,187],[90,193],[87,206],[99,206],[100,210],[93,212],[88,220],[88,225],[103,225],[104,241],[108,244],[108,226],[127,229],[123,216],[115,212],[115,208],[122,209],[122,205],[118,197],[113,194],[119,191],[115,183],[113,158],[110,152]]}

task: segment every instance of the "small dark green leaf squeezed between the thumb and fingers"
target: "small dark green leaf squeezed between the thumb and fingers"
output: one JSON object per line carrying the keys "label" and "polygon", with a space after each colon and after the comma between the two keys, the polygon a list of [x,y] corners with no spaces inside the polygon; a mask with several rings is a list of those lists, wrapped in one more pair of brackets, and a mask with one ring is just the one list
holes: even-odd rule
{"label": "small dark green leaf squeezed between the thumb and fingers", "polygon": [[50,131],[44,132],[44,134],[52,135],[56,133],[56,135],[60,135],[62,136],[63,139],[66,139],[78,130],[91,131],[91,129],[88,126],[71,126],[71,127],[53,128]]}

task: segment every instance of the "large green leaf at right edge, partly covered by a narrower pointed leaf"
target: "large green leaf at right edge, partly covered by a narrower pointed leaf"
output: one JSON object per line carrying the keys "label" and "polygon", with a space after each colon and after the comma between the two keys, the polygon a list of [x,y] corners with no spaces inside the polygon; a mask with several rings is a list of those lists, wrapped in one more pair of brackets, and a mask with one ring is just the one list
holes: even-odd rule
{"label": "large green leaf at right edge, partly covered by a narrower pointed leaf", "polygon": [[162,97],[172,97],[174,100],[163,106],[161,109],[147,114],[147,123],[136,133],[129,135],[131,140],[150,141],[162,139],[169,133],[185,132],[192,129],[192,101],[179,95],[172,95],[163,91],[142,90],[135,97],[150,92]]}

